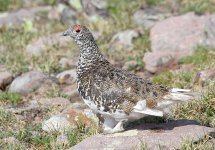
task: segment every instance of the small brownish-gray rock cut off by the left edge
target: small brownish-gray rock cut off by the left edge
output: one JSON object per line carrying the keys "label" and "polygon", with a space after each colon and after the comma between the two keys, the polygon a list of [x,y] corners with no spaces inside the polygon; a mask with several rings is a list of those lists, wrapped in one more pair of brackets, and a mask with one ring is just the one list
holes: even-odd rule
{"label": "small brownish-gray rock cut off by the left edge", "polygon": [[10,72],[0,71],[0,89],[5,89],[13,80],[13,76]]}

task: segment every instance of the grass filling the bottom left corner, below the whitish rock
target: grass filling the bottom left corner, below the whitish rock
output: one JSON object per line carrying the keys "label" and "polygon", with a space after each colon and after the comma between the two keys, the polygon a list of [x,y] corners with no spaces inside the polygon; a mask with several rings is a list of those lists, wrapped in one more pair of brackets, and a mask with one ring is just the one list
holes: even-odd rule
{"label": "grass filling the bottom left corner, below the whitish rock", "polygon": [[[0,144],[3,149],[68,149],[74,146],[81,140],[92,136],[98,132],[97,127],[86,128],[81,124],[77,129],[70,129],[65,131],[68,138],[67,145],[59,145],[56,143],[57,136],[62,134],[58,132],[47,133],[42,130],[41,124],[24,123],[16,119],[15,115],[11,112],[0,109]],[[15,137],[19,144],[11,144],[10,146],[1,139]]]}

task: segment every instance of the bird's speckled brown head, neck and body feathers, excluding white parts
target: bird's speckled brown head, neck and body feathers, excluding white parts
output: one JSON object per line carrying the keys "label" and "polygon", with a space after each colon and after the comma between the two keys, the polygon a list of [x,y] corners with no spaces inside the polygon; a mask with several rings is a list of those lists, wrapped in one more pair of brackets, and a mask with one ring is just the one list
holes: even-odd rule
{"label": "bird's speckled brown head, neck and body feathers, excluding white parts", "polygon": [[91,101],[100,112],[111,114],[121,110],[129,114],[140,100],[146,100],[146,106],[154,108],[168,94],[167,88],[110,64],[86,27],[75,26],[67,32],[80,48],[78,91],[84,100]]}

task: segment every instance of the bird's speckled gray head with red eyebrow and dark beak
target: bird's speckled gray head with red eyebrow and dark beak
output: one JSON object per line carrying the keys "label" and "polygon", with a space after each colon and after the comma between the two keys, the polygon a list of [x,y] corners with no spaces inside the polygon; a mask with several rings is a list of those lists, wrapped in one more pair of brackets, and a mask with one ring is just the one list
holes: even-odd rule
{"label": "bird's speckled gray head with red eyebrow and dark beak", "polygon": [[70,27],[63,33],[63,36],[70,36],[76,42],[81,42],[81,43],[93,38],[91,32],[85,26],[81,26],[81,25]]}

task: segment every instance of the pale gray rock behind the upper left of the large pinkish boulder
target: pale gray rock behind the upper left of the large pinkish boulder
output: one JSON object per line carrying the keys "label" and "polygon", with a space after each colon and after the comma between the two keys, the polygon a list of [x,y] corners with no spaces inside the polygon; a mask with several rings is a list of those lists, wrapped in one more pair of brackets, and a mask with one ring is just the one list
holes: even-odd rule
{"label": "pale gray rock behind the upper left of the large pinkish boulder", "polygon": [[169,13],[162,13],[155,7],[139,9],[134,13],[133,20],[138,25],[143,25],[145,29],[151,28],[156,22],[171,16]]}

